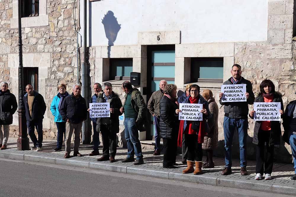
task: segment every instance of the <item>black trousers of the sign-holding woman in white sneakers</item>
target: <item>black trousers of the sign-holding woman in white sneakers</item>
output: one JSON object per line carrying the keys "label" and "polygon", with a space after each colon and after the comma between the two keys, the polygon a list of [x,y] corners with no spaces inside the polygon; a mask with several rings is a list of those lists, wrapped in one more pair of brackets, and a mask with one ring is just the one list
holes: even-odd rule
{"label": "black trousers of the sign-holding woman in white sneakers", "polygon": [[[271,174],[274,165],[274,146],[269,146],[270,131],[258,132],[258,145],[256,146],[256,174]],[[266,143],[266,146],[265,146]],[[266,151],[265,151],[266,147]],[[265,163],[265,164],[264,164]],[[264,170],[265,167],[265,170]]]}

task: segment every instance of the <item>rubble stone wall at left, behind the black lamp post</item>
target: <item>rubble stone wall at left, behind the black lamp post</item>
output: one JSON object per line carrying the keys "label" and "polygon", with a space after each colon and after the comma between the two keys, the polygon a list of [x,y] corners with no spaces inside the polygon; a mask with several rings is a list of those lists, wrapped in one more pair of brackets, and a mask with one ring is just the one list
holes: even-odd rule
{"label": "rubble stone wall at left, behind the black lamp post", "polygon": [[[76,11],[75,18],[78,19],[79,3],[74,5],[74,0],[45,2],[48,25],[22,28],[23,62],[24,67],[39,67],[38,92],[43,95],[47,107],[44,115],[44,139],[56,139],[57,129],[49,109],[53,97],[57,94],[58,84],[65,83],[67,91],[72,93],[72,86],[77,83],[77,42],[73,7]],[[9,82],[9,89],[17,96],[18,29],[11,28],[12,18],[16,17],[13,16],[13,6],[17,6],[13,0],[0,2],[0,81]],[[76,22],[79,24],[78,20]],[[42,58],[38,59],[40,62],[36,62],[36,58],[31,60],[31,57]],[[44,63],[48,66],[43,68],[40,65]],[[18,124],[17,113],[14,115],[13,124]],[[18,135],[18,127],[14,125],[10,128],[12,137]]]}

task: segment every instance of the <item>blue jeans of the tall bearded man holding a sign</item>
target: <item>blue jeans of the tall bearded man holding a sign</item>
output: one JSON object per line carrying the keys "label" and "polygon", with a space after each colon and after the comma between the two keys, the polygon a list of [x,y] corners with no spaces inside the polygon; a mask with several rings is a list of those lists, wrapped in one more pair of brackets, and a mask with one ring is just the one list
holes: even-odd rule
{"label": "blue jeans of the tall bearded man holding a sign", "polygon": [[240,167],[247,166],[247,135],[248,135],[248,119],[224,117],[224,141],[225,141],[225,166],[231,167],[231,149],[232,140],[235,129],[237,129],[239,137],[239,157]]}

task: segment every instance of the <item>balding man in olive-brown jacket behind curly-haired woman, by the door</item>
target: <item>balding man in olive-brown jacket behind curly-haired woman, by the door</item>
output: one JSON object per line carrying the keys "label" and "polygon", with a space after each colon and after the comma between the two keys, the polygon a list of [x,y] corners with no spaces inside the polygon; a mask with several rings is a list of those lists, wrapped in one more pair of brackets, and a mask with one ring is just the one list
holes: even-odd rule
{"label": "balding man in olive-brown jacket behind curly-haired woman, by the door", "polygon": [[159,110],[159,102],[163,97],[163,90],[168,83],[165,80],[161,80],[159,82],[159,90],[152,93],[147,108],[151,115],[153,116],[154,126],[155,126],[155,149],[153,155],[160,155],[160,110]]}

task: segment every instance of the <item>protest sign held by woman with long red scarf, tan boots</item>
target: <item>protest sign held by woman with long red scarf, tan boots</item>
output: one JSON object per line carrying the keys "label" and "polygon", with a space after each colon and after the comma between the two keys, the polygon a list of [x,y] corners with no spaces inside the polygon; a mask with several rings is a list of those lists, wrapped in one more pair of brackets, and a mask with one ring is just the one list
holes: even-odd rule
{"label": "protest sign held by woman with long red scarf, tan boots", "polygon": [[202,104],[180,103],[179,120],[202,121]]}

